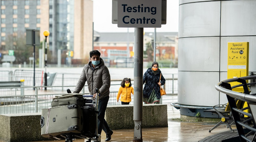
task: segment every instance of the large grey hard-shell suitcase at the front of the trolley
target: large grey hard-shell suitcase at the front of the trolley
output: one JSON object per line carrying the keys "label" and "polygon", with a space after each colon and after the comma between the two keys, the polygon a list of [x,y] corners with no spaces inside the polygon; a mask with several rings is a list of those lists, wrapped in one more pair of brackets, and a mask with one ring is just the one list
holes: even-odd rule
{"label": "large grey hard-shell suitcase at the front of the trolley", "polygon": [[65,133],[81,133],[83,129],[83,110],[77,105],[64,105],[42,109],[41,136],[45,138]]}

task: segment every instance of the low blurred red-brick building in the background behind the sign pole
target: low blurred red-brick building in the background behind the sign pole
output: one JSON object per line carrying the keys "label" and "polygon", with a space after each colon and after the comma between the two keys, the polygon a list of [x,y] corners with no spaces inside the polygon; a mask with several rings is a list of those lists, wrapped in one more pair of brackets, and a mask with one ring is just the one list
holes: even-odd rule
{"label": "low blurred red-brick building in the background behind the sign pole", "polygon": [[[154,32],[145,32],[143,38],[143,51],[147,51],[147,46],[152,48]],[[130,58],[134,51],[134,32],[94,32],[94,49],[99,50],[102,57],[117,61],[116,58]],[[177,62],[178,59],[178,32],[157,32],[156,33],[156,60],[171,60]],[[148,56],[153,57],[151,51],[144,56],[145,61]]]}

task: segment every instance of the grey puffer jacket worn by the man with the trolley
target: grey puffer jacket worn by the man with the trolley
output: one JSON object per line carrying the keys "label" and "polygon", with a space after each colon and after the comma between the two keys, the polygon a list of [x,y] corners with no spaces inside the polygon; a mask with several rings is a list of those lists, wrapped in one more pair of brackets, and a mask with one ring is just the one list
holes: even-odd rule
{"label": "grey puffer jacket worn by the man with the trolley", "polygon": [[94,70],[91,67],[91,61],[84,66],[80,79],[76,84],[74,93],[79,93],[83,86],[85,86],[86,81],[91,95],[96,93],[96,88],[100,90],[99,99],[109,95],[110,74],[102,58],[100,58],[100,64],[97,65]]}

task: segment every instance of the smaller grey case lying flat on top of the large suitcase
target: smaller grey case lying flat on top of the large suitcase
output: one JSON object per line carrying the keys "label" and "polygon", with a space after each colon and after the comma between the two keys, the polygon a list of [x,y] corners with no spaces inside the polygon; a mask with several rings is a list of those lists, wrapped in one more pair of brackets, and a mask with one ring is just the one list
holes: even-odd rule
{"label": "smaller grey case lying flat on top of the large suitcase", "polygon": [[78,104],[79,106],[84,106],[84,98],[82,94],[78,93],[68,93],[63,95],[57,95],[52,100],[52,108],[63,106],[63,105],[72,105]]}

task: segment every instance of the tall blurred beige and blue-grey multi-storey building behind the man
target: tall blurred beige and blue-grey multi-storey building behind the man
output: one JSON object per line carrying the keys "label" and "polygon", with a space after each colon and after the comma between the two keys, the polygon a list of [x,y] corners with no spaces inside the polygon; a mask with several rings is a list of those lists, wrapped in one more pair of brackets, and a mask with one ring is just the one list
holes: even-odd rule
{"label": "tall blurred beige and blue-grey multi-storey building behind the man", "polygon": [[36,29],[40,41],[45,40],[43,31],[50,31],[50,62],[56,63],[58,56],[66,58],[69,51],[74,52],[74,59],[88,58],[93,48],[92,0],[1,0],[0,6],[0,53],[16,49],[18,35],[26,37],[26,29]]}

